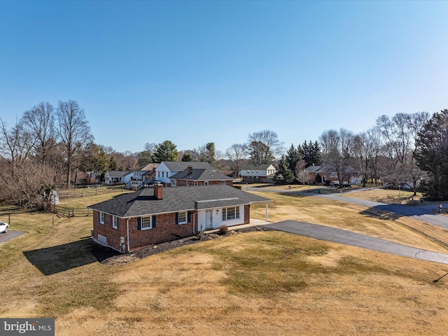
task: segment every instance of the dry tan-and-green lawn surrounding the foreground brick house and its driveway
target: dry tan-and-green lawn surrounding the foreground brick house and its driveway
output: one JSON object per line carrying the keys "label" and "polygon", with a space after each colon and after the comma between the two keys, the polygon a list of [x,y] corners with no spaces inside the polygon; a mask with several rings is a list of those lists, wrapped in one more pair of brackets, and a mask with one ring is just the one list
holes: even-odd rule
{"label": "dry tan-and-green lawn surrounding the foreground brick house and its driveway", "polygon": [[[412,230],[418,223],[363,207],[260,195],[274,200],[271,221],[321,223],[447,252],[430,239],[445,239],[446,230],[424,237]],[[102,200],[81,198],[76,207]],[[264,219],[265,207],[252,214]],[[438,335],[448,328],[448,276],[433,283],[448,265],[251,232],[105,266],[91,253],[91,228],[92,216],[55,218],[53,227],[52,214],[11,215],[10,229],[26,233],[0,245],[0,316],[55,317],[56,335],[73,336]]]}

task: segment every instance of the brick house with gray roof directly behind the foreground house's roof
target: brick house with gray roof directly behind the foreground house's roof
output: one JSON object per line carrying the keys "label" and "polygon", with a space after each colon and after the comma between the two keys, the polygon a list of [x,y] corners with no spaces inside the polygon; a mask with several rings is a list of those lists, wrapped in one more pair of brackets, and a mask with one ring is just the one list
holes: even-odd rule
{"label": "brick house with gray roof directly behind the foreground house's roof", "polygon": [[233,179],[208,169],[194,169],[192,165],[189,165],[183,172],[171,176],[170,184],[173,187],[214,186],[220,184],[233,186]]}

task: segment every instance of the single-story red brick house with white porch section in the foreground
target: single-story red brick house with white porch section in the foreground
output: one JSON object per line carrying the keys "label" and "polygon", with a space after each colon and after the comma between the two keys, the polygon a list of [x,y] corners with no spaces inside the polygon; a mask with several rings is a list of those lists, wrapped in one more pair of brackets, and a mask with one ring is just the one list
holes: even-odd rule
{"label": "single-story red brick house with white porch section in the foreground", "polygon": [[190,237],[221,225],[247,224],[251,204],[264,197],[230,186],[164,188],[156,184],[90,205],[92,239],[122,253],[163,241]]}

